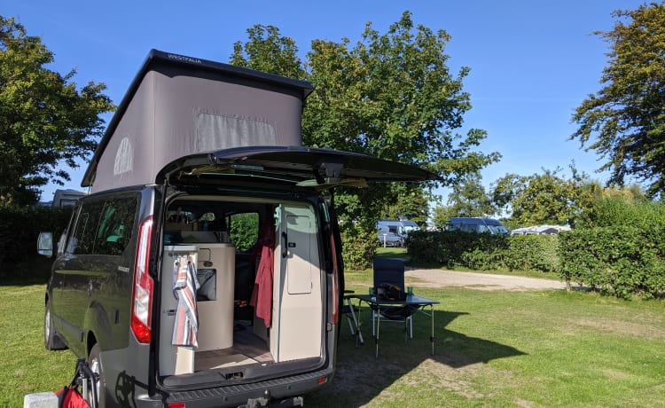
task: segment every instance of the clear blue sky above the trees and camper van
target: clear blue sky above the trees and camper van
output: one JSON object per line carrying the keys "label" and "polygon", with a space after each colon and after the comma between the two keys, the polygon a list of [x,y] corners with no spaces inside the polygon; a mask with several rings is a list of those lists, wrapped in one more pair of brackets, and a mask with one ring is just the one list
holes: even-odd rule
{"label": "clear blue sky above the trees and camper van", "polygon": [[[635,9],[643,1],[133,1],[0,0],[0,13],[14,17],[28,35],[40,35],[55,53],[51,69],[75,68],[74,82],[105,82],[106,94],[120,103],[150,49],[228,62],[232,44],[246,40],[254,24],[273,25],[293,37],[301,58],[314,39],[360,39],[365,23],[385,33],[406,10],[412,20],[451,35],[449,67],[470,67],[464,90],[473,108],[464,128],[485,129],[482,152],[503,159],[482,172],[489,186],[507,173],[531,175],[563,168],[571,161],[592,179],[601,162],[569,141],[571,116],[583,98],[600,89],[607,44],[596,30],[614,26],[611,13]],[[70,170],[64,188],[80,190],[82,168]],[[52,200],[59,187],[43,189]],[[442,191],[445,193],[445,191]],[[445,199],[446,197],[444,197]]]}

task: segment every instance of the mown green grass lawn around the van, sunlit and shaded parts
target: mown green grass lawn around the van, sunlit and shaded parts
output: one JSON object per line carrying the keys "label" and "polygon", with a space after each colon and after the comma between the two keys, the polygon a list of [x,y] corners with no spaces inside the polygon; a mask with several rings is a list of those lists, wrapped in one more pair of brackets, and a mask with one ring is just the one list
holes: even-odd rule
{"label": "mown green grass lawn around the van, sunlit and shaded parts", "polygon": [[[348,272],[364,293],[370,272]],[[338,372],[305,396],[307,406],[640,406],[665,407],[665,302],[624,302],[594,294],[432,289],[441,302],[416,315],[414,339],[402,326],[381,329],[374,358],[365,308],[364,346],[340,323]],[[43,285],[0,286],[0,406],[56,390],[74,373],[69,351],[43,349]]]}

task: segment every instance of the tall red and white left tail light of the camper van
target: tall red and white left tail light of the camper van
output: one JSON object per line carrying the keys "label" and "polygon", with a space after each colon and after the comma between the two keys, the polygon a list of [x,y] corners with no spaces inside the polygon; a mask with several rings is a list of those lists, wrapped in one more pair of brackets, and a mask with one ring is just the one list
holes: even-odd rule
{"label": "tall red and white left tail light of the camper van", "polygon": [[153,279],[148,274],[153,216],[145,218],[138,230],[137,259],[134,262],[134,289],[131,302],[131,331],[140,343],[150,343],[153,311]]}

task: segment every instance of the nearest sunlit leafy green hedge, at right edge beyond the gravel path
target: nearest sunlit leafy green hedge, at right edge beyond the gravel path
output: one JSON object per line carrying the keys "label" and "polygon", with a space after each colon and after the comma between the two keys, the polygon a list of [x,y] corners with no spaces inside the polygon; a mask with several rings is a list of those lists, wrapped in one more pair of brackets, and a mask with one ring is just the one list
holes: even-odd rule
{"label": "nearest sunlit leafy green hedge, at right edge beyond the gravel path", "polygon": [[560,275],[620,298],[665,296],[665,228],[578,229],[559,234]]}

